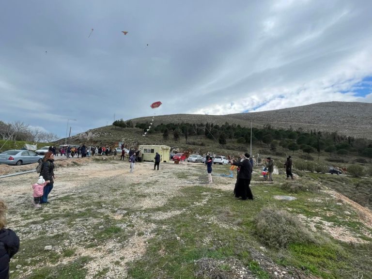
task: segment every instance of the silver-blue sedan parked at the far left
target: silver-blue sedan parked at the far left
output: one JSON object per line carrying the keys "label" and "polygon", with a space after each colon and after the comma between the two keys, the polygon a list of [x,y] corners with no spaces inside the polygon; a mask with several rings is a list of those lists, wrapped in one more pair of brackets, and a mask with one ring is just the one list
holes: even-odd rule
{"label": "silver-blue sedan parked at the far left", "polygon": [[0,153],[0,164],[21,166],[38,163],[43,157],[29,150],[8,150]]}

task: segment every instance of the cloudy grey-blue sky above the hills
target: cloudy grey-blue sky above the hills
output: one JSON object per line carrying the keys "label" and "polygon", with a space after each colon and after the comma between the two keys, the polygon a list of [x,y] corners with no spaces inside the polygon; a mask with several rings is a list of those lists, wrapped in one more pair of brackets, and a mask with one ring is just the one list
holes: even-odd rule
{"label": "cloudy grey-blue sky above the hills", "polygon": [[371,0],[0,6],[0,120],[60,138],[121,118],[372,102]]}

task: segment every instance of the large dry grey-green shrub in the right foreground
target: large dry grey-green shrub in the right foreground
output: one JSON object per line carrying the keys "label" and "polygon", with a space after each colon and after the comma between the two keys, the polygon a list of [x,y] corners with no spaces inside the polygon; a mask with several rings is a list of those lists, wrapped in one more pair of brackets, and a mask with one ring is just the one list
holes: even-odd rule
{"label": "large dry grey-green shrub in the right foreground", "polygon": [[298,218],[275,206],[265,207],[255,217],[255,233],[270,248],[287,248],[291,243],[316,243],[310,232]]}

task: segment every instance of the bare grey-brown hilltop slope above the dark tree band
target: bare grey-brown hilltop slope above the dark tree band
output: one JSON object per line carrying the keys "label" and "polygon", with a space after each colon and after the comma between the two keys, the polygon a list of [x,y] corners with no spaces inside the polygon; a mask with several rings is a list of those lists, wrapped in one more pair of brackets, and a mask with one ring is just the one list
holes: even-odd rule
{"label": "bare grey-brown hilltop slope above the dark tree band", "polygon": [[[131,119],[133,123],[150,121],[151,117]],[[372,139],[372,103],[325,102],[306,106],[276,109],[261,112],[235,113],[226,115],[169,114],[157,115],[154,124],[167,123],[213,123],[240,124],[254,127],[271,124],[275,128],[302,128],[304,130],[337,131],[339,134],[356,138]]]}

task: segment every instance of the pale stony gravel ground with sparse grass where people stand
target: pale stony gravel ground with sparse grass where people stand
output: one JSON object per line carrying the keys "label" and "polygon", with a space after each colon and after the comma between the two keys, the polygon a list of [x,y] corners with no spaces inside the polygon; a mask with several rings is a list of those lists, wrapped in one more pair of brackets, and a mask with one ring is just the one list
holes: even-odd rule
{"label": "pale stony gravel ground with sparse grass where people stand", "polygon": [[[187,162],[178,165],[161,163],[160,171],[153,170],[152,162],[138,163],[133,174],[129,173],[129,163],[118,158],[60,159],[56,165],[56,179],[50,194],[50,203],[43,205],[41,210],[35,210],[31,204],[31,185],[37,181],[36,172],[0,178],[1,198],[10,208],[9,225],[21,239],[21,250],[12,260],[11,278],[30,278],[41,267],[69,264],[81,257],[93,258],[84,265],[87,270],[85,278],[126,278],[127,264],[140,259],[148,248],[148,241],[155,236],[156,220],[177,216],[187,209],[154,210],[155,213],[143,213],[143,210],[161,208],[179,197],[181,188],[200,185],[207,179],[204,174],[205,166]],[[19,167],[2,165],[0,176],[35,168],[36,164]],[[218,170],[218,166],[216,169]],[[174,175],[176,172],[178,176]],[[232,191],[233,179],[220,176],[214,176],[214,179],[214,188]],[[252,181],[252,188],[255,183]],[[127,194],[125,199],[116,196],[119,193],[116,188],[120,188],[121,195]],[[135,194],[132,195],[131,192]],[[338,193],[329,194],[360,211],[363,222],[372,228],[371,211]],[[208,198],[191,206],[207,201]],[[131,209],[130,212],[128,208]],[[111,228],[109,220],[115,221],[116,226],[127,234],[100,240],[97,237],[97,228],[98,231],[107,233]],[[332,231],[331,228],[329,231]],[[347,232],[340,231],[339,238],[345,239],[347,235]],[[34,239],[43,239],[43,236],[45,238],[40,243],[33,242]],[[356,236],[351,237],[353,238],[348,241],[359,241]],[[33,254],[30,251],[35,249],[35,245],[41,246],[41,250],[53,251],[57,259],[51,261],[50,255],[44,255],[43,251]],[[68,251],[73,252],[66,256]],[[314,278],[305,276],[301,270],[279,266],[253,248],[250,253],[257,256],[257,261],[273,278]],[[226,260],[226,264],[234,266],[236,271],[230,275],[217,272],[214,267],[217,262],[201,259],[195,263],[200,266],[199,274],[196,275],[226,279],[255,278],[236,259]],[[104,275],[100,273],[102,270],[106,270]],[[289,275],[289,271],[292,275]],[[293,274],[297,274],[297,277]]]}

